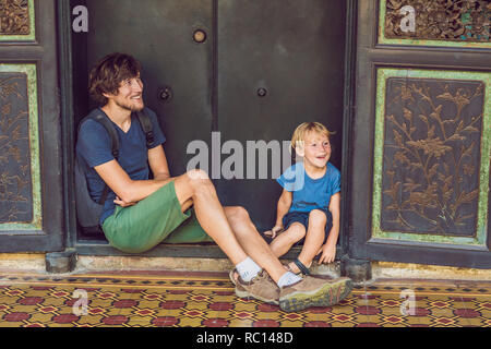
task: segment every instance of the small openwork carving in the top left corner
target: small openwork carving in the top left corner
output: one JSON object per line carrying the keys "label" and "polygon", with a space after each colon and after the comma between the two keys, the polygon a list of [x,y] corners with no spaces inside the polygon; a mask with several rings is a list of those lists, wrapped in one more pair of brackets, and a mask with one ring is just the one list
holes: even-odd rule
{"label": "small openwork carving in the top left corner", "polygon": [[0,0],[0,35],[31,33],[27,0]]}

